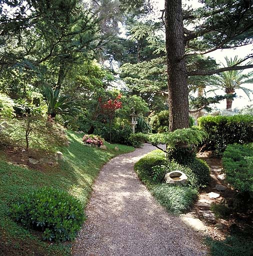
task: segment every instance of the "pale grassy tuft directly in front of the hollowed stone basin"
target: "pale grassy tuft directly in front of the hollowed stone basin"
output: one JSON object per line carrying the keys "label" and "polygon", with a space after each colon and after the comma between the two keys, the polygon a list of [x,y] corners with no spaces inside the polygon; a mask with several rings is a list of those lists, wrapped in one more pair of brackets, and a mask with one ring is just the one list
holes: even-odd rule
{"label": "pale grassy tuft directly in front of the hollowed stone basin", "polygon": [[156,200],[174,213],[182,213],[190,209],[197,198],[197,190],[187,186],[171,186],[160,184],[152,191]]}

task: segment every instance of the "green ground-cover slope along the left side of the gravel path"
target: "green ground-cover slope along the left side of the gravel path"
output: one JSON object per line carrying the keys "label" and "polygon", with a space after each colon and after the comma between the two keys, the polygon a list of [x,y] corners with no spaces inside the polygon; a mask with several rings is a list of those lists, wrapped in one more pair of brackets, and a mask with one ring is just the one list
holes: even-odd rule
{"label": "green ground-cover slope along the left side of the gravel path", "polygon": [[50,244],[39,240],[33,233],[8,217],[8,205],[24,192],[39,186],[52,186],[68,191],[85,207],[92,183],[99,169],[111,157],[132,151],[133,148],[106,144],[108,150],[84,146],[81,136],[68,132],[71,141],[61,148],[64,161],[52,171],[27,169],[6,162],[0,157],[0,255],[69,255],[71,244]]}

